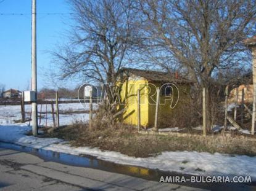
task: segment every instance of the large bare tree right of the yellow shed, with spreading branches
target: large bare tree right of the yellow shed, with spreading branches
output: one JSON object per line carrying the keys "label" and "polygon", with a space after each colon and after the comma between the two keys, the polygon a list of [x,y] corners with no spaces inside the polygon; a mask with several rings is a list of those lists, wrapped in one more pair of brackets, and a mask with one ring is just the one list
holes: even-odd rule
{"label": "large bare tree right of the yellow shed, with spreading branches", "polygon": [[173,57],[206,88],[207,128],[210,128],[209,88],[219,69],[244,64],[242,39],[255,32],[255,1],[140,0],[148,44]]}

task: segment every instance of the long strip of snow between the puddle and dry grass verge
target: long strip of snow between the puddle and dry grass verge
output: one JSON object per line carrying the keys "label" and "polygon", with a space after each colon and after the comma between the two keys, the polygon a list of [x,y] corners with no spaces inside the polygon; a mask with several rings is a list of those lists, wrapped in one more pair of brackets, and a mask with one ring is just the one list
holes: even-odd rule
{"label": "long strip of snow between the puddle and dry grass verge", "polygon": [[57,138],[36,138],[25,133],[31,127],[24,123],[0,125],[0,141],[13,142],[22,146],[46,149],[67,154],[93,155],[102,160],[125,165],[143,166],[163,171],[194,175],[252,176],[256,180],[256,157],[246,155],[209,154],[205,152],[162,152],[156,157],[135,158],[118,152],[101,151],[90,147],[71,147],[68,142]]}

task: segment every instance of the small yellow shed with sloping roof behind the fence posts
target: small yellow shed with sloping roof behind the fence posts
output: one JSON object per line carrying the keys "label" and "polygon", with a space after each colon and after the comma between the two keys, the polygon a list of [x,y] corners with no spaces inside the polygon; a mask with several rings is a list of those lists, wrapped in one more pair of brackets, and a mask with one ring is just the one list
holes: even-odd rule
{"label": "small yellow shed with sloping roof behind the fence posts", "polygon": [[168,119],[188,101],[192,82],[167,72],[123,68],[119,108],[126,108],[121,119],[138,125],[138,90],[140,92],[141,126],[154,127],[157,87],[160,89],[159,126],[167,127]]}

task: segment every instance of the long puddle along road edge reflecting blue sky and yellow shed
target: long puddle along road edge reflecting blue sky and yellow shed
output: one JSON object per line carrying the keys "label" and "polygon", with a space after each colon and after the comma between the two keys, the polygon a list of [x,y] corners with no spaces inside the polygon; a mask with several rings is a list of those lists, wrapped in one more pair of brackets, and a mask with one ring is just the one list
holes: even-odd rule
{"label": "long puddle along road edge reflecting blue sky and yellow shed", "polygon": [[[149,168],[143,168],[139,166],[131,165],[120,165],[113,162],[108,162],[105,160],[97,159],[96,157],[90,155],[70,155],[60,152],[53,152],[51,150],[35,149],[27,146],[19,146],[17,144],[10,144],[7,142],[0,142],[0,148],[19,150],[20,152],[28,152],[30,154],[36,155],[45,161],[63,163],[65,165],[81,166],[87,168],[94,168],[97,170],[109,171],[112,173],[126,174],[130,176],[140,177],[142,179],[147,179],[149,181],[159,182],[161,176],[185,176],[189,178],[189,174],[180,174],[167,171],[153,170]],[[256,190],[256,182],[251,184],[228,184],[228,183],[186,183],[179,184],[186,185],[189,187],[198,187],[202,189],[210,190]]]}

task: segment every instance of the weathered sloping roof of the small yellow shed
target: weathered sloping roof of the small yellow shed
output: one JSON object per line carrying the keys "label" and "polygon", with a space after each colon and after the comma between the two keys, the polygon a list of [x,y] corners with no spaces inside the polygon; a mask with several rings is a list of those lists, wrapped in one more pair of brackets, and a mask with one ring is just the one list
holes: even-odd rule
{"label": "weathered sloping roof of the small yellow shed", "polygon": [[168,72],[134,69],[134,68],[122,68],[122,73],[127,76],[133,74],[134,76],[144,77],[151,82],[175,82],[177,84],[193,84],[192,80],[185,79],[184,77],[170,74]]}

